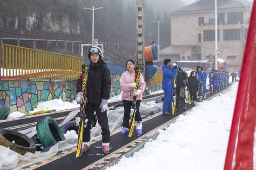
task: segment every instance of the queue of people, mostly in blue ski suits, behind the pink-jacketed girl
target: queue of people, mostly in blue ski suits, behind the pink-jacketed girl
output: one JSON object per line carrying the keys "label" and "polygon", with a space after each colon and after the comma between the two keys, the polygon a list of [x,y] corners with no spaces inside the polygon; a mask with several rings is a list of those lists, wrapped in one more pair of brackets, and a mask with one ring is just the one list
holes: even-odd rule
{"label": "queue of people, mostly in blue ski suits, behind the pink-jacketed girl", "polygon": [[[233,83],[238,81],[236,77],[240,77],[241,73],[240,69],[238,73],[233,71],[230,75],[225,71],[212,69],[209,75],[207,75],[206,71],[204,71],[201,66],[197,66],[196,71],[191,71],[188,76],[184,70],[179,68],[177,63],[173,63],[172,67],[171,59],[165,59],[163,63],[162,89],[164,91],[164,101],[162,113],[165,115],[171,114],[174,96],[176,96],[176,111],[179,112],[182,108],[185,109],[185,96],[181,93],[182,89],[185,89],[185,87],[187,87],[187,90],[189,91],[188,98],[191,99],[189,104],[196,104],[197,102],[202,102],[202,100],[206,99],[207,78],[209,78],[210,93],[217,93],[229,86],[229,76],[232,76]],[[175,76],[176,84],[174,83]],[[175,87],[176,94],[173,93]]]}

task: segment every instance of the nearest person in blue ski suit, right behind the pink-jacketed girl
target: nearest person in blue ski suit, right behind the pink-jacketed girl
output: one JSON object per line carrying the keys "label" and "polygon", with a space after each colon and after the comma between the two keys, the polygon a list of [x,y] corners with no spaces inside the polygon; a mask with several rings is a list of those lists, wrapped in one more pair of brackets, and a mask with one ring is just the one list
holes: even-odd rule
{"label": "nearest person in blue ski suit, right behind the pink-jacketed girl", "polygon": [[167,58],[163,60],[164,66],[162,66],[162,89],[164,93],[164,101],[162,105],[162,113],[169,115],[172,113],[172,101],[173,101],[173,81],[179,69],[178,64],[171,68],[171,59]]}

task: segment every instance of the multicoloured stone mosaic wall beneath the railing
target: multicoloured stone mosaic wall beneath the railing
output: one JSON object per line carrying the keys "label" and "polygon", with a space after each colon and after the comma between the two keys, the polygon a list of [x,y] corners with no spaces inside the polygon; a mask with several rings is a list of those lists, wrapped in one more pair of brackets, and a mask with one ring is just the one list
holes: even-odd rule
{"label": "multicoloured stone mosaic wall beneath the railing", "polygon": [[[121,92],[120,75],[111,75],[110,97]],[[149,84],[151,92],[162,89],[160,84]],[[76,81],[72,82],[33,82],[0,81],[0,108],[6,106],[11,113],[33,111],[38,102],[62,99],[73,101],[76,95]]]}

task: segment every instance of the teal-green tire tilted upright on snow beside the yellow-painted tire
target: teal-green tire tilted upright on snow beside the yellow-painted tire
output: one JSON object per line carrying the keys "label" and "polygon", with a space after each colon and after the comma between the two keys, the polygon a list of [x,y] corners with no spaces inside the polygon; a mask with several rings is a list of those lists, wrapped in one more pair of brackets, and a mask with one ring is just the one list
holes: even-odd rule
{"label": "teal-green tire tilted upright on snow beside the yellow-painted tire", "polygon": [[60,126],[53,118],[49,116],[37,122],[36,131],[43,147],[53,146],[59,141],[65,140]]}

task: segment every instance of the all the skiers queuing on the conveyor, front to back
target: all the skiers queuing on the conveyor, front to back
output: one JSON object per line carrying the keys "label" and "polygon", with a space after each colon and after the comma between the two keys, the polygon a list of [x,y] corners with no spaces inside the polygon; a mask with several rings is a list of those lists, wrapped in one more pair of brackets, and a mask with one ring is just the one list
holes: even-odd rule
{"label": "all the skiers queuing on the conveyor, front to back", "polygon": [[[87,120],[87,125],[92,124],[94,112],[96,113],[98,123],[101,126],[102,131],[102,152],[108,154],[110,130],[108,126],[107,108],[111,91],[110,70],[108,69],[107,64],[102,60],[102,52],[99,47],[93,46],[89,48],[88,58],[91,60],[91,63],[88,66],[86,95],[84,95],[82,92],[83,80],[81,76],[80,79],[78,79],[76,86],[76,102],[81,104],[81,107],[83,106],[83,103],[86,102],[85,119]],[[163,63],[163,114],[172,114],[173,101],[176,101],[175,111],[179,112],[182,109],[185,109],[186,87],[189,91],[189,98],[192,99],[192,103],[196,104],[197,101],[202,102],[203,99],[206,99],[206,79],[208,75],[202,67],[197,66],[196,71],[191,71],[190,76],[188,76],[188,73],[179,68],[177,63],[172,64],[171,59],[165,59]],[[129,132],[131,106],[133,104],[132,101],[134,96],[136,96],[135,126],[136,133],[138,136],[140,136],[142,134],[140,103],[142,101],[142,93],[145,90],[146,83],[143,75],[141,75],[138,87],[136,90],[134,90],[134,88],[137,86],[135,83],[135,62],[133,60],[128,60],[126,63],[126,68],[127,71],[122,74],[120,79],[120,85],[123,90],[121,99],[124,105],[123,128],[121,134],[126,135]],[[211,93],[216,93],[219,90],[226,88],[229,83],[229,76],[232,76],[232,82],[234,82],[233,79],[236,79],[236,75],[237,74],[235,72],[229,75],[226,72],[212,69],[208,76]],[[240,76],[240,73],[238,76]],[[83,152],[90,150],[90,130],[91,126],[84,127],[82,145]]]}

